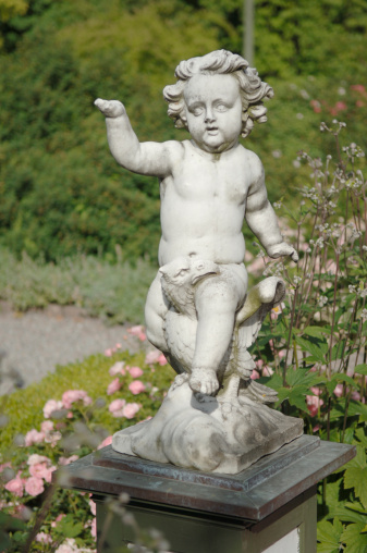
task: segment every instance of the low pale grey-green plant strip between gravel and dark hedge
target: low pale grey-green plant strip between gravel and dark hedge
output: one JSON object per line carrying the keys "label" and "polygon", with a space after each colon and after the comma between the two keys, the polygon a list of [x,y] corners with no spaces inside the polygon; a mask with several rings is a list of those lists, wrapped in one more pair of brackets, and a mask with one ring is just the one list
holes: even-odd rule
{"label": "low pale grey-green plant strip between gravel and dark hedge", "polygon": [[[119,254],[119,250],[117,250]],[[0,248],[0,299],[24,311],[49,304],[77,305],[109,323],[143,322],[144,305],[157,269],[138,260],[134,266],[110,256],[64,258],[59,263],[17,260]]]}

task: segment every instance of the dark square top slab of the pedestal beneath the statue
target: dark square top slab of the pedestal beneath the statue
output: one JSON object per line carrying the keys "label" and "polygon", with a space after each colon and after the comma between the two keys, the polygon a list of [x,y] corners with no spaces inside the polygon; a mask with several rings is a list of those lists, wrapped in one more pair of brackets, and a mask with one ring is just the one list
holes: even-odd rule
{"label": "dark square top slab of the pedestal beneath the statue", "polygon": [[303,435],[238,475],[211,475],[119,454],[111,446],[60,470],[62,486],[135,504],[261,520],[351,460],[355,446]]}

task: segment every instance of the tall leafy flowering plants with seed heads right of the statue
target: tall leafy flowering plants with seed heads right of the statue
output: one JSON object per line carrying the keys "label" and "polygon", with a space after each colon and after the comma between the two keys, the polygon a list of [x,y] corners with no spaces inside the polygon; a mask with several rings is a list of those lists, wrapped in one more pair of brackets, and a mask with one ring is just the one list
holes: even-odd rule
{"label": "tall leafy flowering plants with seed heads right of the statue", "polygon": [[318,540],[320,552],[362,553],[367,551],[367,183],[362,149],[340,145],[344,126],[334,121],[320,127],[334,138],[335,162],[299,153],[310,184],[298,191],[298,212],[284,207],[289,239],[293,234],[301,254],[297,266],[259,251],[264,274],[282,276],[288,297],[262,325],[253,353],[260,382],[278,391],[278,408],[302,417],[308,433],[356,445],[346,469],[320,483]]}

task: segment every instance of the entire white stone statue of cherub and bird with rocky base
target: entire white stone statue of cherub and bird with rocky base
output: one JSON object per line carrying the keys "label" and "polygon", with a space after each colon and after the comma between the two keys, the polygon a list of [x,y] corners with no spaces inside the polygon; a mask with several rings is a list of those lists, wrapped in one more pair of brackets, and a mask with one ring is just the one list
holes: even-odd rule
{"label": "entire white stone statue of cherub and bird with rocky base", "polygon": [[189,140],[139,143],[120,101],[95,102],[118,163],[160,182],[160,269],[146,328],[179,373],[156,417],[118,432],[112,446],[233,474],[303,432],[302,420],[265,405],[277,394],[250,380],[247,349],[285,288],[269,278],[247,291],[244,219],[270,257],[298,256],[280,233],[259,158],[238,142],[267,120],[272,88],[225,50],[182,61],[175,76],[163,96]]}

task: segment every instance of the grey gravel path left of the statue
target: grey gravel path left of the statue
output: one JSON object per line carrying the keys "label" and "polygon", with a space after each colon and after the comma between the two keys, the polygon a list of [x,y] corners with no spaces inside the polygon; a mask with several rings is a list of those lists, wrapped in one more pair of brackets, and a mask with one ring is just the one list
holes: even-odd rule
{"label": "grey gravel path left of the statue", "polygon": [[107,327],[74,306],[14,312],[0,305],[0,395],[53,372],[57,365],[82,360],[121,343],[136,352],[142,343],[127,325]]}

